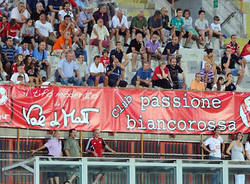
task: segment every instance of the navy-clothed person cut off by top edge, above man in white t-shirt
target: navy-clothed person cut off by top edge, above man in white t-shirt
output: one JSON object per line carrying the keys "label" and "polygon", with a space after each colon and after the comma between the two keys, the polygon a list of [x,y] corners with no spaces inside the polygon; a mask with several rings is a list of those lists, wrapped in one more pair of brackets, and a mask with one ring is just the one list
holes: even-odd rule
{"label": "navy-clothed person cut off by top edge, above man in white t-shirt", "polygon": [[61,0],[48,0],[48,12],[52,27],[54,27],[55,18],[58,19],[58,13],[62,9],[62,5]]}

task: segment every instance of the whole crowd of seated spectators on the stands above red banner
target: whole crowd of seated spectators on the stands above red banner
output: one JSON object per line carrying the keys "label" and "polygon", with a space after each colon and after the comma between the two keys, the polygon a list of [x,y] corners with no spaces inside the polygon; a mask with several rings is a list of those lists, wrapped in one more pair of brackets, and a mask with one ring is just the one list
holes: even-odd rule
{"label": "whole crowd of seated spectators on the stands above red banner", "polygon": [[[250,61],[250,40],[242,51],[236,35],[224,46],[218,16],[209,24],[206,12],[200,10],[193,24],[189,10],[178,8],[170,20],[163,7],[148,19],[143,10],[139,11],[129,25],[123,10],[115,12],[110,1],[99,0],[96,11],[91,5],[86,0],[48,0],[47,4],[44,0],[27,0],[10,8],[6,0],[0,1],[1,80],[36,87],[60,82],[75,86],[103,83],[104,87],[132,84],[137,88],[190,86],[191,90],[235,91],[244,77],[246,62]],[[210,48],[212,37],[217,37],[220,49],[225,50],[220,65],[215,63]],[[191,84],[186,84],[179,54],[183,38],[184,48],[190,49],[190,40],[195,40],[206,52]],[[99,52],[90,64],[87,60],[91,53],[86,45],[97,47]],[[48,82],[52,73],[49,55],[61,59],[54,82]],[[159,63],[154,70],[153,60]],[[136,67],[139,61],[140,68]],[[130,63],[134,77],[126,81]],[[42,76],[41,70],[46,75]],[[236,83],[233,76],[238,76]]]}

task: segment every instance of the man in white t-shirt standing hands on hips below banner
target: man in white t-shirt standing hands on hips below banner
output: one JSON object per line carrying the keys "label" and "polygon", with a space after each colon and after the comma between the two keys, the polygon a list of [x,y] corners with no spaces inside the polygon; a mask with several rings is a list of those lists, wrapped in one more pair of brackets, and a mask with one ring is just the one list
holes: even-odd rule
{"label": "man in white t-shirt standing hands on hips below banner", "polygon": [[[202,143],[202,148],[209,153],[210,160],[220,160],[221,157],[224,158],[224,150],[225,150],[225,143],[220,136],[220,130],[218,127],[214,128],[214,135],[206,139]],[[221,144],[222,144],[222,151],[221,151]],[[209,149],[207,148],[209,146]],[[218,173],[212,175],[212,183],[219,184],[220,177]]]}

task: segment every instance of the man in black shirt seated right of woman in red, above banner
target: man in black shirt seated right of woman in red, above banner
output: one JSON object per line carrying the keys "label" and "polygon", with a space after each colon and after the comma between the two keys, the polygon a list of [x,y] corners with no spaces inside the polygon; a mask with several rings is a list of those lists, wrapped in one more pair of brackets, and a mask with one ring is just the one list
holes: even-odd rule
{"label": "man in black shirt seated right of woman in red, above banner", "polygon": [[[170,72],[170,76],[173,82],[173,88],[174,89],[186,89],[186,78],[185,78],[185,73],[183,72],[182,68],[177,65],[177,61],[175,57],[170,57],[169,59],[169,65],[167,65],[168,70]],[[183,80],[181,80],[178,77],[178,74],[182,75]]]}

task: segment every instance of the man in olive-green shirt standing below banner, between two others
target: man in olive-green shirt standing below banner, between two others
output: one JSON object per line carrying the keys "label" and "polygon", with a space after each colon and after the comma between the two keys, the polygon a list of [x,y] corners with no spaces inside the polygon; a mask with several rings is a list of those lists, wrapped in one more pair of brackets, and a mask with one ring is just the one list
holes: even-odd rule
{"label": "man in olive-green shirt standing below banner, between two others", "polygon": [[[64,143],[63,150],[67,157],[81,157],[82,153],[80,150],[79,142],[75,139],[77,131],[75,129],[69,130],[69,137]],[[73,174],[67,182],[72,183],[72,181],[77,177],[77,174]]]}

